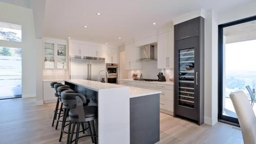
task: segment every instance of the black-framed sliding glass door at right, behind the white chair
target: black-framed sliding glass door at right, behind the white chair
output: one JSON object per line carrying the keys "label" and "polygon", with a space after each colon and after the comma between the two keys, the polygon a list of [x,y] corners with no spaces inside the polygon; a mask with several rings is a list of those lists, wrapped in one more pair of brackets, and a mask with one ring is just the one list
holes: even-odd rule
{"label": "black-framed sliding glass door at right, behind the white chair", "polygon": [[256,17],[219,26],[219,119],[238,124],[229,94],[243,90],[256,113]]}

